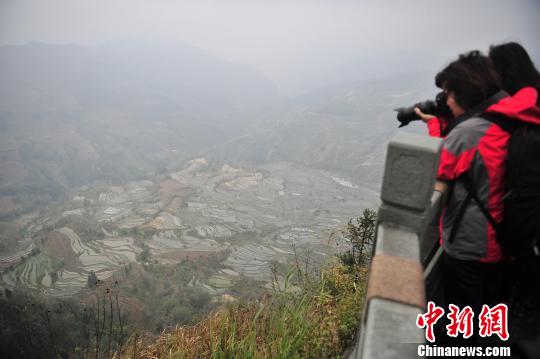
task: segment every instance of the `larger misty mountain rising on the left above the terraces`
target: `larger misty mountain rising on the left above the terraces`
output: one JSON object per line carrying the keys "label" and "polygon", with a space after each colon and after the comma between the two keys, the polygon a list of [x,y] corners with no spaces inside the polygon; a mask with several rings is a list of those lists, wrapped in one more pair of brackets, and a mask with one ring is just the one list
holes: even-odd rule
{"label": "larger misty mountain rising on the left above the terraces", "polygon": [[280,101],[254,68],[187,45],[3,46],[0,78],[4,200],[174,168]]}

